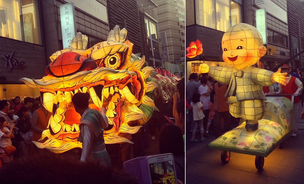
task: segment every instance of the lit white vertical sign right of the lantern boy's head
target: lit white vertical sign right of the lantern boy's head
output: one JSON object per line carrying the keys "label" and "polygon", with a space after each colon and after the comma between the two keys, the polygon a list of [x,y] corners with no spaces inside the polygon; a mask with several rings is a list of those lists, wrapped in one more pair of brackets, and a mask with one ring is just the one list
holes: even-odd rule
{"label": "lit white vertical sign right of the lantern boy's head", "polygon": [[266,9],[261,8],[255,11],[256,22],[257,22],[257,30],[260,31],[263,44],[267,44],[267,25],[266,25]]}

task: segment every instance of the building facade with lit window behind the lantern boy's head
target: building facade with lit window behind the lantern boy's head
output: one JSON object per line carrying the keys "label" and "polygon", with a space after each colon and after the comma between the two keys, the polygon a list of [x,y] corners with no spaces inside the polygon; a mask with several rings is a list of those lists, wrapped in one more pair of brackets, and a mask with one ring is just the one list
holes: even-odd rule
{"label": "building facade with lit window behind the lantern boy's head", "polygon": [[[186,58],[188,75],[197,72],[202,61],[212,66],[226,66],[220,43],[224,32],[241,22],[257,27],[256,11],[261,8],[266,10],[262,21],[265,29],[259,31],[265,35],[263,41],[267,54],[256,66],[273,69],[290,57],[286,0],[188,0],[186,5],[186,14],[189,15],[186,17],[186,47],[196,39],[203,45],[201,56]],[[258,20],[261,20],[260,15]]]}

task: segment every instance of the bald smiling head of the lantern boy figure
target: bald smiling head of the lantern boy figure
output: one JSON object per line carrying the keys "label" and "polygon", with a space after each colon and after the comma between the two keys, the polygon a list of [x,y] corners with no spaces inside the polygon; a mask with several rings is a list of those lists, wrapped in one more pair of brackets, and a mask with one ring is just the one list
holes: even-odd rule
{"label": "bald smiling head of the lantern boy figure", "polygon": [[222,38],[223,60],[235,67],[256,64],[266,53],[260,32],[252,25],[232,26]]}

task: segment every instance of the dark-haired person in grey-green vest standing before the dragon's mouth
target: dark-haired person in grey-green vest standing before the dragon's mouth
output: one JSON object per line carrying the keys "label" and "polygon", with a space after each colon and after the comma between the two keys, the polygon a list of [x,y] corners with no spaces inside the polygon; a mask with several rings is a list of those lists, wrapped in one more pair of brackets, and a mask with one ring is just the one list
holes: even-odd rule
{"label": "dark-haired person in grey-green vest standing before the dragon's mouth", "polygon": [[97,159],[102,163],[111,165],[111,158],[105,150],[103,131],[108,127],[108,118],[105,110],[101,113],[89,107],[89,96],[85,93],[76,93],[72,97],[75,111],[80,114],[80,133],[78,141],[82,143],[81,161]]}

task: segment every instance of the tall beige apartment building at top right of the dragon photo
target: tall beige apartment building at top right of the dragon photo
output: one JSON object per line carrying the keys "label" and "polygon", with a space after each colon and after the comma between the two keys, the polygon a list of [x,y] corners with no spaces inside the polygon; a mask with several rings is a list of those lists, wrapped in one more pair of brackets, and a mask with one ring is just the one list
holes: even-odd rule
{"label": "tall beige apartment building at top right of the dragon photo", "polygon": [[184,0],[155,0],[163,60],[180,64],[185,52]]}

